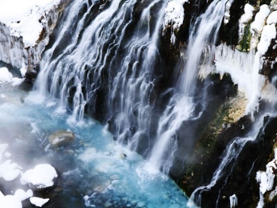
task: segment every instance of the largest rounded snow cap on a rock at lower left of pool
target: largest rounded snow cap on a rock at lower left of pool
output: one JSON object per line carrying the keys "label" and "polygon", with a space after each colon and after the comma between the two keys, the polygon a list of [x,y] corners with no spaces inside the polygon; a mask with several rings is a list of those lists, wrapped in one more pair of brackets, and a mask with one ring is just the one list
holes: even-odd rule
{"label": "largest rounded snow cap on a rock at lower left of pool", "polygon": [[54,185],[54,178],[58,175],[53,166],[49,164],[39,164],[34,169],[27,170],[21,176],[21,183],[23,185],[31,183],[37,188],[47,188]]}

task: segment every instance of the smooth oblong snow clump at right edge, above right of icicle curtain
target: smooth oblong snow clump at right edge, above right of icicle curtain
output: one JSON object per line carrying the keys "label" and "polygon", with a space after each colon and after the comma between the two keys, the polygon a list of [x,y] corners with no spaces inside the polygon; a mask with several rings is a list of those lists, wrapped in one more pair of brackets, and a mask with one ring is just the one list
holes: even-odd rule
{"label": "smooth oblong snow clump at right edge, above right of icicle curtain", "polygon": [[260,42],[258,43],[257,49],[261,55],[264,55],[267,51],[271,40],[276,37],[275,24],[265,25],[263,27]]}

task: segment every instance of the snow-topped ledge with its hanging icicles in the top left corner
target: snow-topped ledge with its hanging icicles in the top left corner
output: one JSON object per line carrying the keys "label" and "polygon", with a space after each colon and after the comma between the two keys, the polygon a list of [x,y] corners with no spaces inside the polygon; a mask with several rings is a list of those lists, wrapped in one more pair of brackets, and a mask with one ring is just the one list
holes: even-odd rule
{"label": "snow-topped ledge with its hanging icicles in the top left corner", "polygon": [[1,0],[0,60],[32,69],[68,0]]}

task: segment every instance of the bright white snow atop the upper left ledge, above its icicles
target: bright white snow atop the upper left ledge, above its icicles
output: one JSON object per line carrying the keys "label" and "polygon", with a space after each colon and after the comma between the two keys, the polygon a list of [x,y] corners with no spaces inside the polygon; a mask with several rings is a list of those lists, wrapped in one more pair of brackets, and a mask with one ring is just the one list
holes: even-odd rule
{"label": "bright white snow atop the upper left ledge, above its icicles", "polygon": [[0,22],[11,29],[13,36],[22,36],[26,46],[34,46],[46,25],[45,18],[39,20],[59,3],[60,0],[1,0]]}

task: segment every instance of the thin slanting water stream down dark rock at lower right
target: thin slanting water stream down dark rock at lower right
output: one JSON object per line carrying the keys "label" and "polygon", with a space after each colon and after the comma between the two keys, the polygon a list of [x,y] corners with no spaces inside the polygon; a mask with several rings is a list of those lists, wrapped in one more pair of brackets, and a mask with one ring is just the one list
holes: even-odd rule
{"label": "thin slanting water stream down dark rock at lower right", "polygon": [[[262,116],[259,117],[253,124],[252,130],[245,136],[245,137],[236,137],[233,141],[230,142],[230,144],[225,149],[223,155],[222,155],[222,161],[213,174],[213,177],[211,179],[211,182],[205,186],[200,186],[197,189],[195,189],[188,201],[189,207],[194,207],[194,203],[196,205],[201,206],[201,193],[204,191],[209,191],[211,188],[213,188],[219,179],[226,173],[225,170],[228,169],[228,172],[232,172],[232,169],[234,168],[234,162],[237,160],[238,156],[240,155],[241,151],[243,150],[244,146],[248,142],[253,142],[256,140],[260,130],[264,127],[264,116],[276,116],[272,113],[265,113]],[[231,168],[230,168],[231,166]],[[231,171],[230,171],[231,170]]]}

